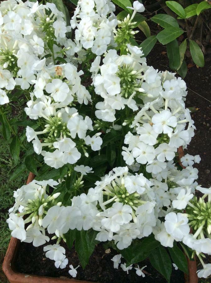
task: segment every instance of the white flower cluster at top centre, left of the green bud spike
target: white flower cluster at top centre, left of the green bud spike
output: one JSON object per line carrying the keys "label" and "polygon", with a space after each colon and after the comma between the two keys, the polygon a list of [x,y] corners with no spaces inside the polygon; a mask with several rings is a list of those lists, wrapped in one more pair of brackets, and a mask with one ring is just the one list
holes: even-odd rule
{"label": "white flower cluster at top centre, left of the green bud spike", "polygon": [[110,0],[80,0],[70,26],[75,29],[76,48],[91,48],[91,52],[102,55],[108,45],[114,45],[113,30],[117,25],[115,5]]}

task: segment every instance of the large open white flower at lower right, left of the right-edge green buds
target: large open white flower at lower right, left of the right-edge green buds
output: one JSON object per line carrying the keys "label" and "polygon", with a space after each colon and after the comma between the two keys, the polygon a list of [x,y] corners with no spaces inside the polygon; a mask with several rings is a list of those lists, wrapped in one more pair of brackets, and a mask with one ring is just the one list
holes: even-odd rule
{"label": "large open white flower at lower right, left of the right-edge green buds", "polygon": [[184,236],[187,236],[190,227],[187,224],[188,218],[182,213],[170,212],[165,216],[165,229],[176,241],[181,241]]}

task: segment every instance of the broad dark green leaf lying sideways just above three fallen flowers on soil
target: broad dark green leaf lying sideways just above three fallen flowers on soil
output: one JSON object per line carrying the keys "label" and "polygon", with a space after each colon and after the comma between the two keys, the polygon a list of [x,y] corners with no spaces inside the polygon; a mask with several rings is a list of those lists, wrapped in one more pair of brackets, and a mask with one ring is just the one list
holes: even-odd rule
{"label": "broad dark green leaf lying sideways just above three fallen flowers on soil", "polygon": [[160,246],[160,242],[155,240],[154,235],[151,235],[145,237],[143,241],[133,241],[128,248],[123,249],[120,252],[130,265],[147,258],[152,250],[158,246]]}

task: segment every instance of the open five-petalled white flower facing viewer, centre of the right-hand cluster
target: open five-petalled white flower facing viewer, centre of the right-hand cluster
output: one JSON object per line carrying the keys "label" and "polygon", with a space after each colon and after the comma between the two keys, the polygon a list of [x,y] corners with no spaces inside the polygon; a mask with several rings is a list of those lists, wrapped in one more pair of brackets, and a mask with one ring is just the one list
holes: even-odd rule
{"label": "open five-petalled white flower facing viewer, centre of the right-hand cluster", "polygon": [[154,114],[152,117],[153,130],[161,134],[169,134],[173,131],[171,127],[176,127],[177,119],[168,110],[163,110],[160,113]]}

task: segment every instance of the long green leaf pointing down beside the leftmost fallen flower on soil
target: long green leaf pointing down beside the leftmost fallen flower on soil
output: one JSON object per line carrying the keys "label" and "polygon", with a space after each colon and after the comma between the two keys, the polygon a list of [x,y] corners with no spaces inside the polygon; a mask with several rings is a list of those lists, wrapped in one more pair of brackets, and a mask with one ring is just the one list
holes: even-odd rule
{"label": "long green leaf pointing down beside the leftmost fallen flower on soil", "polygon": [[83,269],[89,264],[89,257],[95,249],[95,245],[98,241],[95,240],[97,231],[88,230],[81,231],[76,230],[75,232],[75,250],[78,253],[78,258]]}

